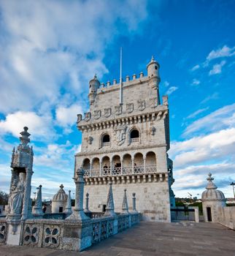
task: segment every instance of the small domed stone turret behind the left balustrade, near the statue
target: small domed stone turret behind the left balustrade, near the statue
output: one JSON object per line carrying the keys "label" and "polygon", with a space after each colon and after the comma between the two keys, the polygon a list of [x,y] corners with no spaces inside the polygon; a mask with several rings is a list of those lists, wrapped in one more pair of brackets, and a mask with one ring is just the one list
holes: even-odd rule
{"label": "small domed stone turret behind the left balustrade, near the statue", "polygon": [[68,195],[66,195],[66,192],[63,190],[63,184],[61,184],[60,189],[53,196],[52,210],[51,210],[53,214],[63,212],[66,206],[67,198],[68,198]]}

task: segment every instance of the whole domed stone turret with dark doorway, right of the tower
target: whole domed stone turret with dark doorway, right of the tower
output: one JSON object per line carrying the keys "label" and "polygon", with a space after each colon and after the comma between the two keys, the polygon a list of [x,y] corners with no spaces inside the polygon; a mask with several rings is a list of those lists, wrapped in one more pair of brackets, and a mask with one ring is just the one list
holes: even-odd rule
{"label": "whole domed stone turret with dark doorway, right of the tower", "polygon": [[213,180],[212,173],[208,173],[207,190],[201,194],[205,222],[217,222],[219,208],[226,206],[226,198],[223,195],[223,192],[217,190]]}

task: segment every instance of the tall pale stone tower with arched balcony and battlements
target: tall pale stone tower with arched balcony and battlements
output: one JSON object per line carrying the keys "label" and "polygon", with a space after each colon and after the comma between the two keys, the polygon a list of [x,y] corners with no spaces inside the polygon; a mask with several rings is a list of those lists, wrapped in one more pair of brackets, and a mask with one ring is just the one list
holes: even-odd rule
{"label": "tall pale stone tower with arched balcony and battlements", "polygon": [[[115,211],[122,211],[123,189],[128,202],[136,193],[136,208],[149,221],[171,222],[174,207],[169,139],[168,97],[159,96],[159,64],[153,58],[143,72],[120,83],[89,83],[90,110],[77,115],[82,132],[75,168],[85,170],[85,194],[90,211],[105,211],[107,184],[112,181]],[[74,172],[74,177],[76,176]],[[131,207],[129,207],[131,211]]]}

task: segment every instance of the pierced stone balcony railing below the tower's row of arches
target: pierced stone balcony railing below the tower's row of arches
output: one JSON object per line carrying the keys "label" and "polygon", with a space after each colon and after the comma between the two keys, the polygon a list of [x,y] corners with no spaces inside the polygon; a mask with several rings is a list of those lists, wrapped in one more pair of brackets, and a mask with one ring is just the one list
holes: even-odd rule
{"label": "pierced stone balcony railing below the tower's row of arches", "polygon": [[139,173],[156,173],[156,165],[134,165],[128,167],[112,167],[103,169],[88,169],[84,170],[85,177],[96,177],[96,176],[122,176],[128,174],[139,174]]}

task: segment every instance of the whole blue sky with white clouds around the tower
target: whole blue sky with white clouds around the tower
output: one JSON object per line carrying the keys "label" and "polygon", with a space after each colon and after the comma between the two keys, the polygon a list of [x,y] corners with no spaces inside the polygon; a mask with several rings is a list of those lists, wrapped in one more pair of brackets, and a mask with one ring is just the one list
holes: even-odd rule
{"label": "whole blue sky with white clouds around the tower", "polygon": [[74,191],[80,150],[77,113],[88,109],[88,81],[161,66],[169,95],[174,193],[201,196],[207,173],[226,197],[235,181],[234,1],[0,0],[0,189],[9,191],[10,157],[28,126],[34,146],[32,192]]}

